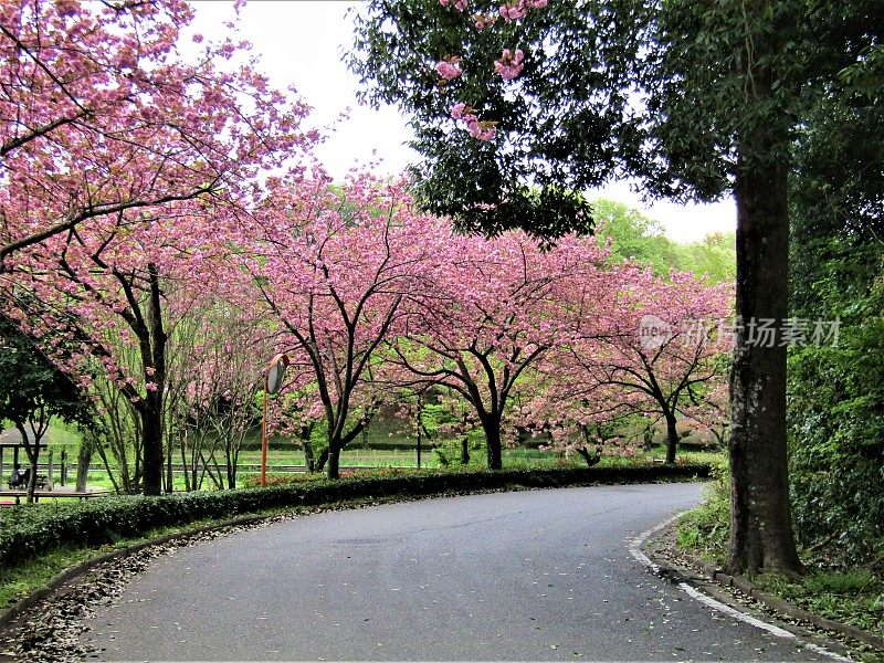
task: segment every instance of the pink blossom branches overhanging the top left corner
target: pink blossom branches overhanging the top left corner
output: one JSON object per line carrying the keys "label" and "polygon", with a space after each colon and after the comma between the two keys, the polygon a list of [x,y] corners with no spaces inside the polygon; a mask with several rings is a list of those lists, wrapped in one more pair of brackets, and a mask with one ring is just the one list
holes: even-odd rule
{"label": "pink blossom branches overhanging the top left corner", "polygon": [[192,17],[181,0],[0,7],[0,272],[97,219],[241,202],[282,162],[305,107],[251,63],[225,69],[242,44],[186,62],[177,44]]}

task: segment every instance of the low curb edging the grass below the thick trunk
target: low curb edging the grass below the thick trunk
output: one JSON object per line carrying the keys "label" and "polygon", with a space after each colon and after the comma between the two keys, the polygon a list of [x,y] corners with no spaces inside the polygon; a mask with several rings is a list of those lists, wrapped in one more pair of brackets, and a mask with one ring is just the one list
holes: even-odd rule
{"label": "low curb edging the grass below the thick trunk", "polygon": [[[669,520],[663,527],[660,527],[660,529],[653,532],[653,536],[659,535],[660,532],[665,527],[672,526],[672,524],[675,522],[676,518]],[[697,559],[696,557],[685,552],[684,550],[680,549],[678,554],[683,556],[685,559],[687,559],[691,564],[703,569],[703,572],[708,580],[712,580],[713,582],[716,582],[717,585],[724,588],[737,589],[747,597],[750,597],[756,601],[764,603],[771,610],[776,610],[777,612],[780,612],[790,619],[809,623],[824,631],[830,631],[833,633],[838,633],[840,635],[844,635],[846,638],[852,638],[853,640],[857,640],[859,642],[863,642],[865,644],[869,644],[870,646],[884,651],[884,638],[882,638],[881,635],[876,635],[871,631],[864,631],[862,629],[857,629],[856,627],[853,627],[851,624],[845,624],[839,621],[827,619],[824,617],[820,617],[818,614],[813,614],[812,612],[808,612],[803,608],[798,608],[797,606],[792,606],[791,603],[785,601],[783,599],[762,592],[757,587],[755,587],[755,585],[750,580],[741,576],[732,576],[725,573],[720,568],[712,564],[708,564],[707,561]],[[655,559],[653,564],[660,568],[662,576],[672,576],[674,578],[680,578],[682,581],[686,582],[690,582],[691,580],[690,578],[686,578],[678,569],[661,565],[659,559]]]}

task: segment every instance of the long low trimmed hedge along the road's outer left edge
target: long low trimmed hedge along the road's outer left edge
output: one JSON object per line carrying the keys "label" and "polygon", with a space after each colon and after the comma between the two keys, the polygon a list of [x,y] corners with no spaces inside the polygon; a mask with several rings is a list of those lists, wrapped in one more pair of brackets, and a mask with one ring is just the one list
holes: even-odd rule
{"label": "long low trimmed hedge along the road's outer left edge", "polygon": [[11,568],[63,545],[101,546],[156,527],[185,525],[201,518],[230,518],[264,509],[392,495],[650,483],[708,476],[708,465],[433,472],[159,497],[127,495],[84,503],[38,504],[0,512],[0,567]]}

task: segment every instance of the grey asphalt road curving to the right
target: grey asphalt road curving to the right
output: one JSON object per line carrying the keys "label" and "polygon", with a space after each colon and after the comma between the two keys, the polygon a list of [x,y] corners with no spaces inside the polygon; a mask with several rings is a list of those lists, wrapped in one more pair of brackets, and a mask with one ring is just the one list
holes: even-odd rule
{"label": "grey asphalt road curving to the right", "polygon": [[84,635],[109,660],[824,660],[629,554],[697,484],[332,512],[160,558]]}

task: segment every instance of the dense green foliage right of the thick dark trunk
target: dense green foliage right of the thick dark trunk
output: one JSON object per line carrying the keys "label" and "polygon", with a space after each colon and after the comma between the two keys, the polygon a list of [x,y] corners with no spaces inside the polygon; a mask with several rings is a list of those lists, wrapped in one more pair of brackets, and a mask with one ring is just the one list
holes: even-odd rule
{"label": "dense green foliage right of the thick dark trunk", "polygon": [[838,345],[789,356],[799,540],[833,561],[884,554],[884,108],[822,99],[796,145],[792,313],[840,319]]}

